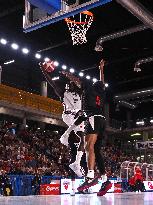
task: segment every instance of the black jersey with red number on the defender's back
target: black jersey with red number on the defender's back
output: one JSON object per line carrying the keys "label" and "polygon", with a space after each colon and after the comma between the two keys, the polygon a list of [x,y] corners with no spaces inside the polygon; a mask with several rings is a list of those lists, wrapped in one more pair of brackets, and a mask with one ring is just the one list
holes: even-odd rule
{"label": "black jersey with red number on the defender's back", "polygon": [[102,81],[84,84],[83,109],[89,115],[104,115],[105,90]]}

